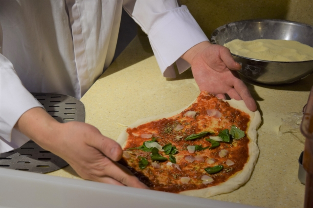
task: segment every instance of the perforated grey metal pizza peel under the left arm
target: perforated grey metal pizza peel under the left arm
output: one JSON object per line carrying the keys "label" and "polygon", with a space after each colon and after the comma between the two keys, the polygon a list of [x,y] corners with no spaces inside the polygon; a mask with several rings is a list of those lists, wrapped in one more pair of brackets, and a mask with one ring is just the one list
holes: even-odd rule
{"label": "perforated grey metal pizza peel under the left arm", "polygon": [[[85,122],[85,107],[82,102],[68,95],[32,93],[54,119],[60,123]],[[20,148],[0,154],[0,167],[47,173],[67,166],[67,162],[46,151],[33,141]]]}

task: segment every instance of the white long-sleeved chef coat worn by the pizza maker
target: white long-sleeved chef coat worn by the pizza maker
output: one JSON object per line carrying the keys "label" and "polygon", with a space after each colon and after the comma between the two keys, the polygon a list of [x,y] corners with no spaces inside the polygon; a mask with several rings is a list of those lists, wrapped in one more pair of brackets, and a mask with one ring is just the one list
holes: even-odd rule
{"label": "white long-sleeved chef coat worn by the pizza maker", "polygon": [[[190,65],[179,58],[208,41],[176,0],[0,0],[0,152],[29,139],[14,125],[41,106],[29,92],[80,99],[112,62],[122,7],[148,35],[165,77]],[[107,89],[110,90],[110,89]]]}

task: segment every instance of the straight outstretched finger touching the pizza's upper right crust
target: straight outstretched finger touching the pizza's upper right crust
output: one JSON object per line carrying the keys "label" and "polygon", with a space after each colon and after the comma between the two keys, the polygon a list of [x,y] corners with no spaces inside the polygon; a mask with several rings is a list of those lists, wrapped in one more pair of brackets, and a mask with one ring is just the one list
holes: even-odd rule
{"label": "straight outstretched finger touching the pizza's upper right crust", "polygon": [[248,88],[246,87],[246,84],[241,80],[237,80],[234,83],[234,88],[238,92],[240,97],[244,100],[247,108],[251,111],[256,111],[257,109],[256,103],[252,98]]}

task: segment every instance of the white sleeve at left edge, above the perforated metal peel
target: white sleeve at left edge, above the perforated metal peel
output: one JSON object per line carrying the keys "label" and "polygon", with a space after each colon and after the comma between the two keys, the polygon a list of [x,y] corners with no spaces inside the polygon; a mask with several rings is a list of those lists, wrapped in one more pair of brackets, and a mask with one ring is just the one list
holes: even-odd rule
{"label": "white sleeve at left edge, above the perforated metal peel", "polygon": [[12,63],[0,54],[0,153],[18,148],[29,140],[14,125],[33,107],[43,106],[22,85]]}

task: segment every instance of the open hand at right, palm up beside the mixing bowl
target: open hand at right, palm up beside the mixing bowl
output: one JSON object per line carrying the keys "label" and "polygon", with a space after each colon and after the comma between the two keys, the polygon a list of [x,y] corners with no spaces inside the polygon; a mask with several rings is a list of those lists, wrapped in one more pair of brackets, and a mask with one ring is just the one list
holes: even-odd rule
{"label": "open hand at right, palm up beside the mixing bowl", "polygon": [[257,109],[245,83],[234,71],[241,69],[241,65],[234,61],[228,48],[201,42],[181,58],[191,64],[193,76],[201,91],[206,90],[220,99],[225,99],[224,94],[227,94],[235,100],[244,100],[249,110]]}

